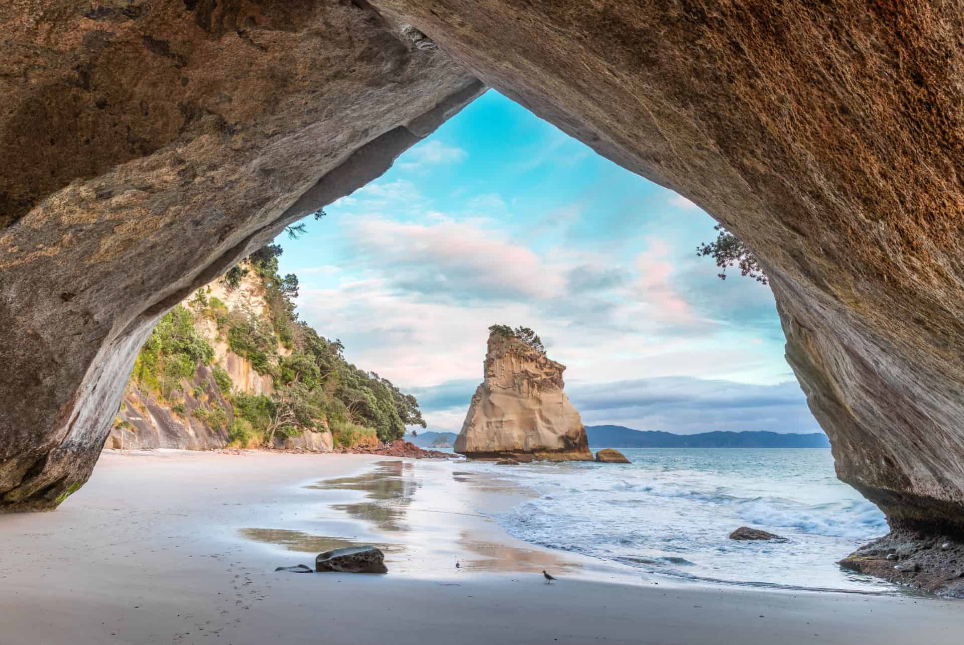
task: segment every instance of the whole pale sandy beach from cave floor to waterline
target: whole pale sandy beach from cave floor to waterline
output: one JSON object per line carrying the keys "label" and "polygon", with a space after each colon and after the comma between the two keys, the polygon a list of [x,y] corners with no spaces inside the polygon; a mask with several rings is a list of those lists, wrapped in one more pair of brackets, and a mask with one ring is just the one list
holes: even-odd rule
{"label": "whole pale sandy beach from cave floor to waterline", "polygon": [[[56,513],[0,516],[0,643],[961,640],[960,602],[644,578],[475,510],[520,495],[456,463],[107,452]],[[274,572],[357,543],[387,576]]]}

